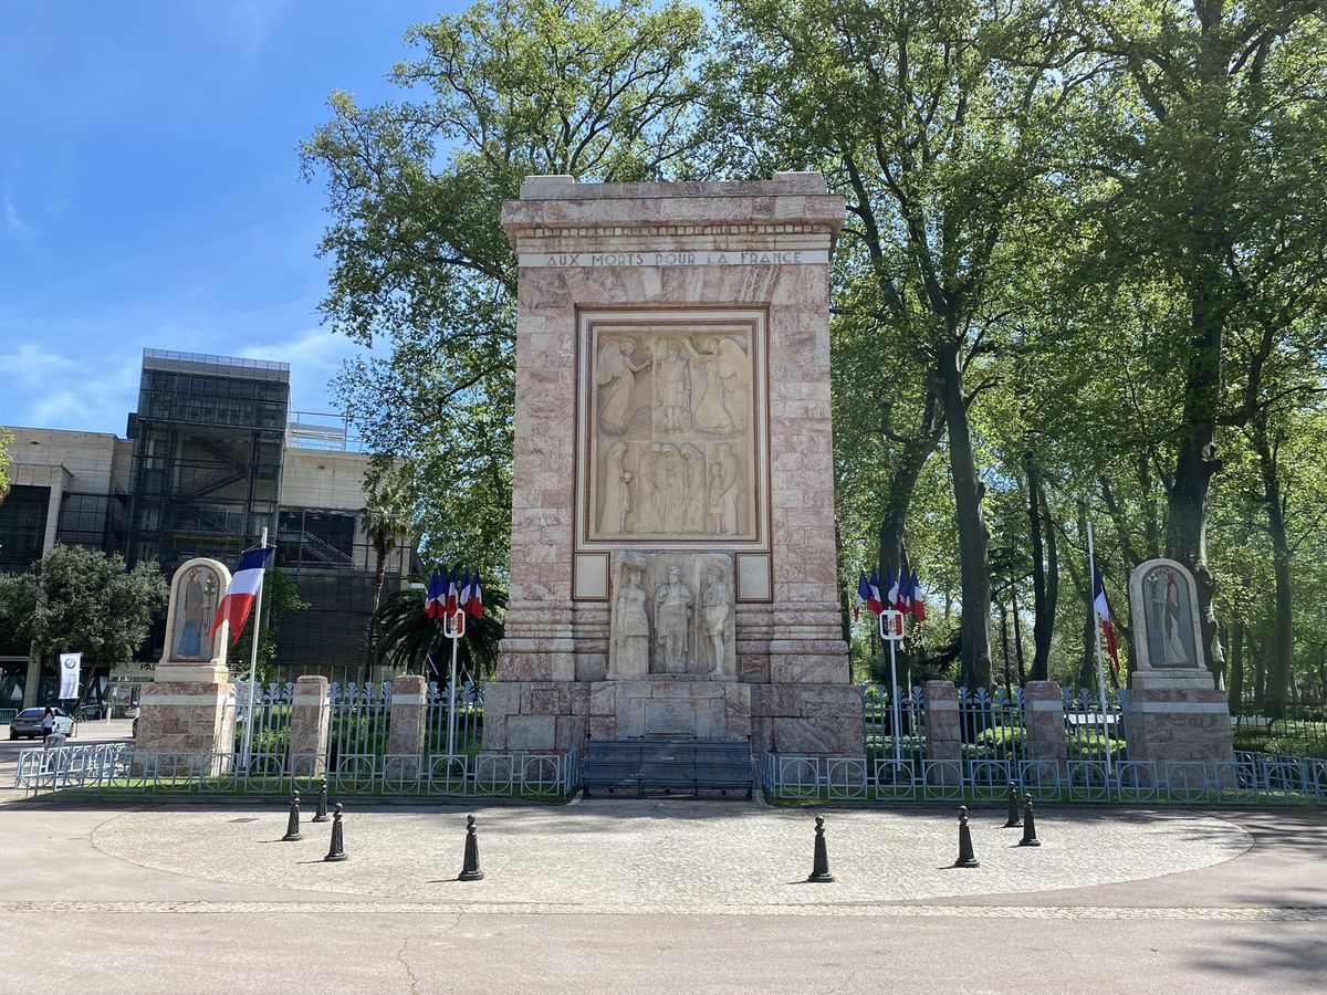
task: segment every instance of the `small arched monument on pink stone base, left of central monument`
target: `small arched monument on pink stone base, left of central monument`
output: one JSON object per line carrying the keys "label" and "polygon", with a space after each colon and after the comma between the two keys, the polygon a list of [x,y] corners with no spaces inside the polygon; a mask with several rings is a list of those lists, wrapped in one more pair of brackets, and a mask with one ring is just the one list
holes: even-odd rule
{"label": "small arched monument on pink stone base, left of central monument", "polygon": [[166,612],[166,651],[143,687],[134,754],[191,756],[203,763],[228,754],[235,736],[234,689],[226,666],[230,624],[212,637],[212,620],[231,582],[216,560],[190,560],[175,570]]}

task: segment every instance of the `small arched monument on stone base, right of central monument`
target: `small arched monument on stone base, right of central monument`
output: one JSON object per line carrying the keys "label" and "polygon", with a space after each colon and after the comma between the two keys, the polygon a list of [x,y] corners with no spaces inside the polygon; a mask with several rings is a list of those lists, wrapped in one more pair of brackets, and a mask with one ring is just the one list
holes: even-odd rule
{"label": "small arched monument on stone base, right of central monument", "polygon": [[1231,763],[1230,706],[1202,658],[1198,588],[1174,560],[1129,577],[1133,659],[1125,702],[1131,760]]}

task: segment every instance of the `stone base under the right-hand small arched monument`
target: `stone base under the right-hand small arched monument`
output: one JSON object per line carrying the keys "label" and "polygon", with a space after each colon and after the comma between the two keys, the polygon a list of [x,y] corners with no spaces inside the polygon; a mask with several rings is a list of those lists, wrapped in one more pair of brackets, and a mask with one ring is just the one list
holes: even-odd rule
{"label": "stone base under the right-hand small arched monument", "polygon": [[1230,706],[1206,670],[1135,671],[1125,703],[1129,759],[1233,763]]}

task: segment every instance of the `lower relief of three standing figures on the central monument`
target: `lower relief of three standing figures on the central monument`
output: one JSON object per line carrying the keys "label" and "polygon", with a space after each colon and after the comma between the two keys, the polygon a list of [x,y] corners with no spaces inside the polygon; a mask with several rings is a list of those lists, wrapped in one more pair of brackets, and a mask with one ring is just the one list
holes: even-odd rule
{"label": "lower relief of three standing figures on the central monument", "polygon": [[736,678],[727,553],[613,553],[609,679]]}

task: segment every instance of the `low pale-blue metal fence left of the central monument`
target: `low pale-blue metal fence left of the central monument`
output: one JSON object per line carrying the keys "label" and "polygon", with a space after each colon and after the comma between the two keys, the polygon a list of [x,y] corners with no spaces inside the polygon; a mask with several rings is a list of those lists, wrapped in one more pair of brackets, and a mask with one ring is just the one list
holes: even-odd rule
{"label": "low pale-blue metal fence left of the central monument", "polygon": [[219,796],[299,789],[316,795],[324,780],[333,796],[561,800],[580,787],[580,755],[346,755],[324,772],[299,763],[283,764],[273,772],[245,769],[232,754],[138,755],[131,744],[117,743],[24,750],[19,754],[15,789]]}

